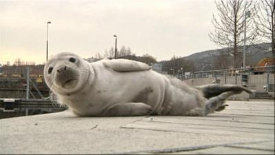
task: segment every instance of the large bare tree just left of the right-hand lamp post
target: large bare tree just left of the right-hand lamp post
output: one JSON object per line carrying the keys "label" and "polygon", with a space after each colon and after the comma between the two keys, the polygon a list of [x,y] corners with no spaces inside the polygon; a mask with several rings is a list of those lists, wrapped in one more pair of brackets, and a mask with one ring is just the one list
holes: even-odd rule
{"label": "large bare tree just left of the right-hand lamp post", "polygon": [[[243,45],[244,19],[247,15],[245,12],[250,10],[254,5],[254,1],[248,0],[228,0],[215,1],[219,18],[214,14],[212,24],[214,32],[208,35],[210,41],[221,45],[222,47],[232,48],[230,55],[233,56],[233,66],[237,67],[237,57],[241,52],[239,48]],[[251,16],[254,16],[256,10],[250,10]],[[257,29],[254,26],[253,20],[246,21],[246,41],[251,45],[256,41]]]}

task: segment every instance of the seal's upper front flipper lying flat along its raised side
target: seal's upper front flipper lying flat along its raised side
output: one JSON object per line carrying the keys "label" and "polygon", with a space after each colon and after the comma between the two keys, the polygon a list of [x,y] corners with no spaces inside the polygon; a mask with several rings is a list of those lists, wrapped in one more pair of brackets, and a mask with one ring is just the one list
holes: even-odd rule
{"label": "seal's upper front flipper lying flat along its raised side", "polygon": [[146,65],[146,63],[131,61],[127,59],[112,59],[111,61],[103,61],[103,65],[106,68],[111,68],[112,70],[115,70],[117,72],[151,70],[151,66]]}

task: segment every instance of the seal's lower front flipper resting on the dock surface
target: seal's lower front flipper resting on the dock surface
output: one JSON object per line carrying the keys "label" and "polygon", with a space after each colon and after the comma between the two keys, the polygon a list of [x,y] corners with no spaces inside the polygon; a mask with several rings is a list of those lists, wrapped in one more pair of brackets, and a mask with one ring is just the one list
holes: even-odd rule
{"label": "seal's lower front flipper resting on the dock surface", "polygon": [[145,103],[118,103],[104,110],[104,116],[143,116],[151,113],[153,108]]}

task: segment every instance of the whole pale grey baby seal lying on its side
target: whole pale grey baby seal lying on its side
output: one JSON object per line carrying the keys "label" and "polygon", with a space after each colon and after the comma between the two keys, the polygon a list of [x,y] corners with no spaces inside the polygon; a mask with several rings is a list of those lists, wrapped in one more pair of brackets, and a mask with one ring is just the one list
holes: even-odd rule
{"label": "whole pale grey baby seal lying on its side", "polygon": [[88,63],[69,52],[47,61],[44,77],[59,102],[78,116],[206,116],[223,110],[229,96],[252,93],[239,85],[190,87],[145,63],[126,59]]}

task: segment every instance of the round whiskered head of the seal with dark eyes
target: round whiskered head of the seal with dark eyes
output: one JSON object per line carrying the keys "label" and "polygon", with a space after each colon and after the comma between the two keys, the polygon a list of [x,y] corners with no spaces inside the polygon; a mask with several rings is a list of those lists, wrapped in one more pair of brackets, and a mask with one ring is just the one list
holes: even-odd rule
{"label": "round whiskered head of the seal with dark eyes", "polygon": [[62,52],[45,64],[45,83],[56,94],[74,94],[85,85],[90,70],[89,63],[80,56]]}

